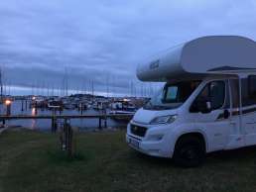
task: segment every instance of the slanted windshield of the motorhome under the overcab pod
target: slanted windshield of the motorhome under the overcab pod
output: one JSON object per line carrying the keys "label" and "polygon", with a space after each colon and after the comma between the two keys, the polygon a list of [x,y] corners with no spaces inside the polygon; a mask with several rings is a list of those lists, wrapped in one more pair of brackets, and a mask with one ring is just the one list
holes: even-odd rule
{"label": "slanted windshield of the motorhome under the overcab pod", "polygon": [[144,106],[146,110],[168,110],[175,109],[183,105],[191,96],[194,89],[201,81],[184,81],[178,83],[167,83],[164,89],[161,89]]}

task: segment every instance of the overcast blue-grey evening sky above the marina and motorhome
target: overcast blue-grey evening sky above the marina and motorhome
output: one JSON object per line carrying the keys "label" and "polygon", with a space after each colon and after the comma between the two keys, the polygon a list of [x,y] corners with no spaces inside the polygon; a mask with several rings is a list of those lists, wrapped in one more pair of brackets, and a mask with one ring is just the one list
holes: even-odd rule
{"label": "overcast blue-grey evening sky above the marina and motorhome", "polygon": [[19,87],[129,92],[143,58],[208,35],[256,40],[255,0],[0,1],[0,66]]}

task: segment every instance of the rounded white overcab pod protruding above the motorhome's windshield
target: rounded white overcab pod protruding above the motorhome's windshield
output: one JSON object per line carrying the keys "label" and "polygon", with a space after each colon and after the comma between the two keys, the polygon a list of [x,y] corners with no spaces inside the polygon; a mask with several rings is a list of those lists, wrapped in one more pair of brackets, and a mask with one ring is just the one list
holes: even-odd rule
{"label": "rounded white overcab pod protruding above the motorhome's windshield", "polygon": [[139,64],[142,81],[167,81],[210,74],[232,74],[255,69],[256,43],[237,36],[212,36],[171,48]]}

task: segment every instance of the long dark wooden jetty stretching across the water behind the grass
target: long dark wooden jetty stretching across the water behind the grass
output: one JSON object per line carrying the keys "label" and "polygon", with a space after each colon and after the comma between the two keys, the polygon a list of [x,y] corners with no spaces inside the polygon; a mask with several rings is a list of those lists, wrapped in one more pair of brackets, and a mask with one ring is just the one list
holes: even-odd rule
{"label": "long dark wooden jetty stretching across the water behind the grass", "polygon": [[107,127],[107,119],[115,118],[115,119],[132,119],[133,115],[130,114],[92,114],[92,115],[11,115],[11,116],[1,116],[0,122],[3,122],[5,125],[5,121],[7,120],[51,120],[52,121],[52,131],[56,131],[57,129],[57,121],[58,120],[71,120],[71,119],[98,119],[98,128],[102,129],[102,121],[104,123],[104,127]]}

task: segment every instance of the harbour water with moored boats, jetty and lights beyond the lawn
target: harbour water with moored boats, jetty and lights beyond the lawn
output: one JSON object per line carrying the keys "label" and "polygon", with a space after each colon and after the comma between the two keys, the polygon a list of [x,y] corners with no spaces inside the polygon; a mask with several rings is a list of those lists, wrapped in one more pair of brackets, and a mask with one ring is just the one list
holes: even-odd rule
{"label": "harbour water with moored boats, jetty and lights beyond the lawn", "polygon": [[125,129],[143,103],[143,98],[104,98],[82,94],[63,98],[6,97],[0,105],[0,125],[49,132],[68,120],[79,131]]}

